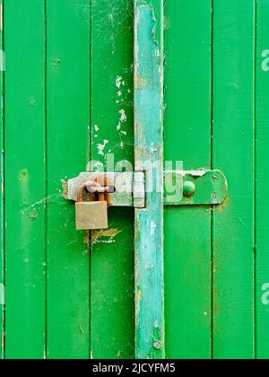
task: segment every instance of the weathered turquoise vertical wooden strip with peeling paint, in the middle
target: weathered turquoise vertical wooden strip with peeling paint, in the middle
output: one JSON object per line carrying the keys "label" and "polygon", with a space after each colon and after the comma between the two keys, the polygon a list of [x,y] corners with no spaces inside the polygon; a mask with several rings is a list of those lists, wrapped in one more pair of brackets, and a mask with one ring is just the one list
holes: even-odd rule
{"label": "weathered turquoise vertical wooden strip with peeling paint, in the middle", "polygon": [[162,0],[134,1],[134,147],[147,191],[145,209],[135,210],[135,352],[138,359],[163,358]]}

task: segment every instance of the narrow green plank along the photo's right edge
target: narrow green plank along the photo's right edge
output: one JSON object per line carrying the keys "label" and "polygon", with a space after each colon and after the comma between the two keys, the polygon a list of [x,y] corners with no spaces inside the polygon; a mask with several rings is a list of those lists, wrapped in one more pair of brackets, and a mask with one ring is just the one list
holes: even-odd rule
{"label": "narrow green plank along the photo's right edge", "polygon": [[257,2],[256,45],[256,356],[269,358],[269,3]]}

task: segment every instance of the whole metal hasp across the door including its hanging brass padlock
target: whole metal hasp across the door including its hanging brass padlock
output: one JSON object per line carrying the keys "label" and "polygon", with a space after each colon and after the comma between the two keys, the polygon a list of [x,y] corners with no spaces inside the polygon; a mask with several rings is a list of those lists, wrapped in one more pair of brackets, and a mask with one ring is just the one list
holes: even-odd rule
{"label": "whole metal hasp across the door including its hanging brass padlock", "polygon": [[[108,206],[145,208],[145,179],[149,180],[150,175],[146,177],[144,172],[82,172],[68,180],[67,198],[76,202],[76,229],[108,229]],[[147,187],[151,185],[147,184]],[[164,206],[221,205],[227,190],[227,180],[221,171],[164,172]]]}

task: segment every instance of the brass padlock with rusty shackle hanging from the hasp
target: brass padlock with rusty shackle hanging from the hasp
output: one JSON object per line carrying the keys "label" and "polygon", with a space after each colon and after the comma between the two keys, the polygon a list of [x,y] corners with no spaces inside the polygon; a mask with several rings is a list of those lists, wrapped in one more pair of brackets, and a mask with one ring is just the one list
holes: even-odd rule
{"label": "brass padlock with rusty shackle hanging from the hasp", "polygon": [[[90,191],[89,191],[90,188]],[[88,189],[88,201],[83,195]],[[86,181],[78,190],[78,201],[75,204],[75,220],[77,231],[93,231],[108,229],[108,201],[103,188],[95,181]],[[98,198],[98,200],[95,200]]]}

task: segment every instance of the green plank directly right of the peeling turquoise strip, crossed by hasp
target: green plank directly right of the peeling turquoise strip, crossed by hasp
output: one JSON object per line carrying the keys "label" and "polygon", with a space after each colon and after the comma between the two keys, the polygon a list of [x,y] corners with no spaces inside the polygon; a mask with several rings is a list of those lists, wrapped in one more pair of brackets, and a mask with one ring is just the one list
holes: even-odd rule
{"label": "green plank directly right of the peeling turquoise strip, crossed by hasp", "polygon": [[[165,7],[165,161],[211,166],[211,0]],[[175,169],[175,165],[174,165]],[[211,356],[211,211],[165,209],[168,358]]]}

